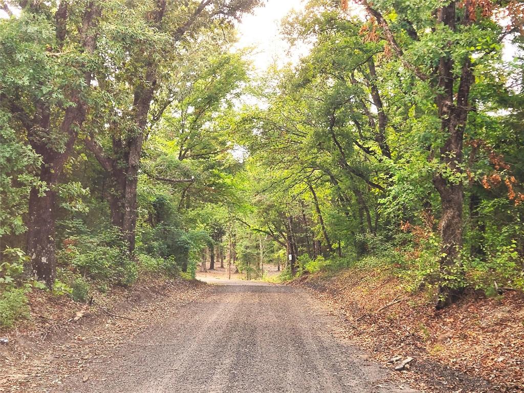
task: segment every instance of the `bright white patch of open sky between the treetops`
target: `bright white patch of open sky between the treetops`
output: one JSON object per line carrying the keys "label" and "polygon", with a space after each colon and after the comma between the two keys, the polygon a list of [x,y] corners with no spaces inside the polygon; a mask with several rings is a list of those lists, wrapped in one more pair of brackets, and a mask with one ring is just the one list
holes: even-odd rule
{"label": "bright white patch of open sky between the treetops", "polygon": [[253,64],[260,73],[276,63],[279,67],[297,61],[304,51],[294,48],[293,55],[288,53],[288,43],[280,35],[280,22],[292,9],[300,10],[305,0],[267,0],[253,14],[245,15],[238,25],[236,48],[253,48]]}

